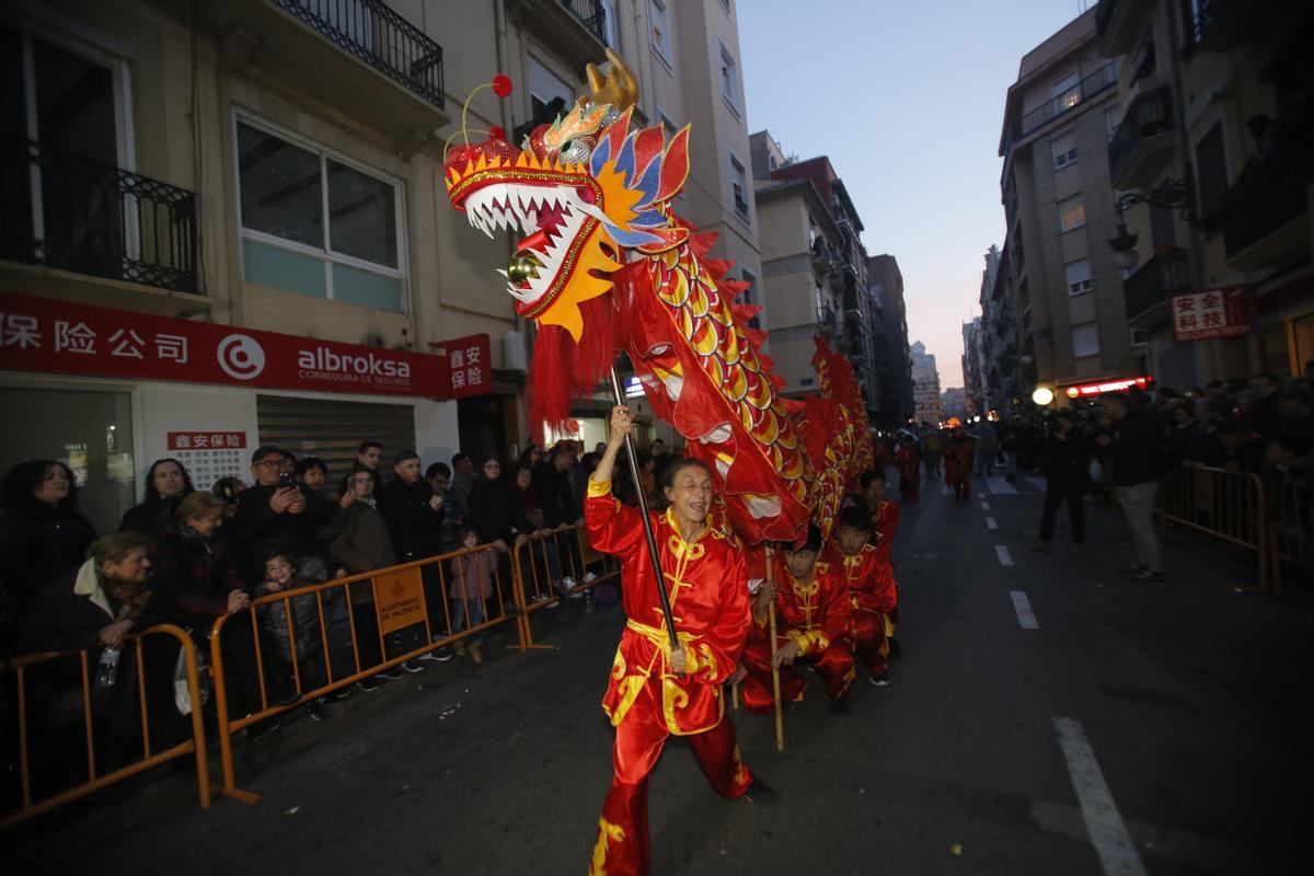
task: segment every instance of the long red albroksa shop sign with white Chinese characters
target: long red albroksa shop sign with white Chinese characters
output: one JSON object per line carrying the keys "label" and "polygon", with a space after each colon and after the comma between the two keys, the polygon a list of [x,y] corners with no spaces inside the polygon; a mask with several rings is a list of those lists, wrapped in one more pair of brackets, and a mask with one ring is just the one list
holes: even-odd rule
{"label": "long red albroksa shop sign with white Chinese characters", "polygon": [[440,356],[9,294],[0,294],[0,369],[452,397]]}

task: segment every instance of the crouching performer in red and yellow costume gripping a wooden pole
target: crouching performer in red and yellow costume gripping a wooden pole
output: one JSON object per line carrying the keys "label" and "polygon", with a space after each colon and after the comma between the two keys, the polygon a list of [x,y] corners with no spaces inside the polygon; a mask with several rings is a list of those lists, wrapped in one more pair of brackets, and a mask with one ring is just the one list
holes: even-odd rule
{"label": "crouching performer in red and yellow costume gripping a wooden pole", "polygon": [[[773,558],[774,580],[766,582],[753,604],[753,634],[744,649],[744,705],[750,712],[769,712],[771,693],[771,637],[767,607],[775,599],[777,647],[774,665],[781,668],[781,697],[803,699],[803,680],[792,667],[811,663],[825,680],[834,712],[849,708],[853,682],[853,608],[844,569],[819,562],[821,531],[808,527],[808,540],[799,548],[783,545]],[[783,553],[783,562],[781,558]],[[775,591],[774,594],[771,591]]]}

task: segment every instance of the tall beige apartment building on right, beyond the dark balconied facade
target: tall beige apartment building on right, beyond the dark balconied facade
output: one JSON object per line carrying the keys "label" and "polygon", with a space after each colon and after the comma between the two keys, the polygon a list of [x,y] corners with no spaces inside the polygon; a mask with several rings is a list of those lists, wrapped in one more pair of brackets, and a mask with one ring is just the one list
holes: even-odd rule
{"label": "tall beige apartment building on right, beyond the dark balconied facade", "polygon": [[[1117,58],[1092,8],[1029,51],[1008,89],[999,154],[1005,256],[1031,378],[1064,386],[1125,376],[1131,352],[1105,160],[1118,120]],[[1026,387],[1030,395],[1031,387]]]}

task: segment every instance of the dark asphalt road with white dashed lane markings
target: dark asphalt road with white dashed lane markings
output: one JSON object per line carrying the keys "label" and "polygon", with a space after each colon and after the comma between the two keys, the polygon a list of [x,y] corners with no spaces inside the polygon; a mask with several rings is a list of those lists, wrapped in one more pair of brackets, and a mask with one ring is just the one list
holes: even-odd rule
{"label": "dark asphalt road with white dashed lane markings", "polygon": [[[783,754],[769,718],[736,714],[774,806],[716,797],[668,746],[653,872],[1309,872],[1310,600],[1236,590],[1254,566],[1189,538],[1166,548],[1169,586],[1129,583],[1122,521],[1095,506],[1084,556],[1064,517],[1030,553],[1041,487],[975,489],[904,508],[890,687],[859,682],[834,716],[813,683]],[[623,617],[540,615],[560,650],[494,640],[482,667],[431,663],[242,746],[259,805],[134,783],[0,835],[5,871],[582,873]]]}

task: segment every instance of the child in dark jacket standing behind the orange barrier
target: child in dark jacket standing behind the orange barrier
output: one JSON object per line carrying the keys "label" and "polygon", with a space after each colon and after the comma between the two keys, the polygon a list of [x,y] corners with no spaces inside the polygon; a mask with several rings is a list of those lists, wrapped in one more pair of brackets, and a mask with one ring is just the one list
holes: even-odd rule
{"label": "child in dark jacket standing behind the orange barrier", "polygon": [[[275,550],[264,561],[265,579],[256,584],[256,596],[279,594],[298,587],[318,583],[314,577],[298,573],[292,554]],[[288,608],[292,609],[292,624],[288,624]],[[289,701],[297,701],[305,691],[313,691],[327,682],[325,672],[323,630],[319,625],[319,605],[314,594],[302,594],[260,607],[264,613],[265,633],[277,644],[279,655],[285,662],[289,674],[293,661],[301,676],[301,687]],[[325,697],[306,703],[306,712],[315,721],[325,720]]]}

